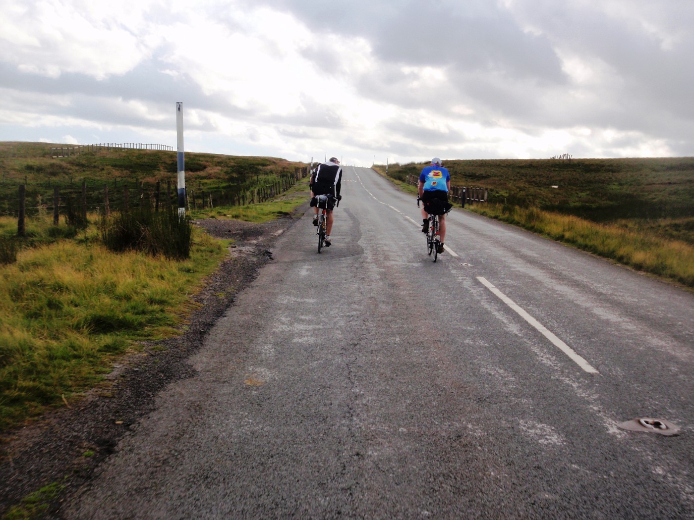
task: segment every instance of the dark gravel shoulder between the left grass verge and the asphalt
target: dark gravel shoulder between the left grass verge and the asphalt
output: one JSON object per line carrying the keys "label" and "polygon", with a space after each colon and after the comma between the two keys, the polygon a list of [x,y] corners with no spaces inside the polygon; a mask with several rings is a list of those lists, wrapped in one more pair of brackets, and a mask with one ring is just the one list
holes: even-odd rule
{"label": "dark gravel shoulder between the left grass verge and the asphalt", "polygon": [[[74,489],[91,478],[130,426],[153,410],[155,395],[165,385],[192,376],[187,359],[198,351],[206,333],[234,304],[239,292],[271,261],[273,244],[294,222],[292,217],[265,224],[195,221],[216,238],[235,239],[235,247],[194,297],[200,305],[189,316],[187,330],[124,357],[109,374],[108,385],[71,408],[55,410],[39,422],[6,433],[0,440],[0,517],[46,485],[57,482],[66,490]],[[60,496],[44,517],[61,518]]]}

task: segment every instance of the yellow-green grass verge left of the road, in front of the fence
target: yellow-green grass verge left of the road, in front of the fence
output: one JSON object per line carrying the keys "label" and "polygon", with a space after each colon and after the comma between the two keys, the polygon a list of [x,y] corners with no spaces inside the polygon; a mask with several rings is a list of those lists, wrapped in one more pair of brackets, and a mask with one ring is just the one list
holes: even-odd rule
{"label": "yellow-green grass verge left of the road, in front of the fence", "polygon": [[33,222],[17,261],[0,265],[0,431],[92,388],[137,341],[178,333],[225,255],[199,230],[190,258],[174,261],[110,252],[93,225],[72,239],[51,227]]}

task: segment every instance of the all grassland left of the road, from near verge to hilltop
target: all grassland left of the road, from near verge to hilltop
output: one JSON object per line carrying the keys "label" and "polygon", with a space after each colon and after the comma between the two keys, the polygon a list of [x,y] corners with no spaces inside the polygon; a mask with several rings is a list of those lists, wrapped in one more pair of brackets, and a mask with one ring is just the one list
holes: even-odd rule
{"label": "all grassland left of the road, from near verge to hilltop", "polygon": [[[10,210],[0,215],[0,433],[46,408],[74,403],[140,342],[180,333],[194,308],[192,295],[228,258],[227,244],[200,229],[192,229],[189,250],[178,256],[139,245],[143,237],[166,229],[146,224],[160,220],[148,218],[152,209],[146,196],[133,189],[163,180],[172,180],[175,188],[176,153],[99,150],[51,159],[50,147],[0,143],[0,205],[5,202]],[[218,190],[213,207],[209,199],[203,207],[201,197],[187,216],[262,222],[291,214],[307,200],[307,185],[292,175],[303,166],[272,157],[186,154],[187,187],[205,191],[212,200]],[[87,218],[73,221],[82,209],[63,201],[54,225],[42,200],[52,204],[48,193],[55,186],[69,200],[83,180],[95,187]],[[17,237],[16,200],[11,199],[24,182],[26,230]],[[113,187],[112,197],[125,185],[133,188],[129,212],[104,218],[98,203],[103,184]],[[222,196],[252,193],[258,200],[260,192],[269,195],[266,202],[231,206]],[[177,215],[171,207],[155,214]],[[123,239],[131,232],[136,247]],[[165,243],[175,238],[163,236]]]}

